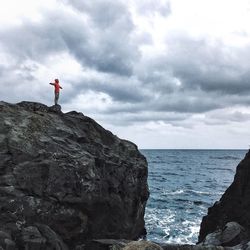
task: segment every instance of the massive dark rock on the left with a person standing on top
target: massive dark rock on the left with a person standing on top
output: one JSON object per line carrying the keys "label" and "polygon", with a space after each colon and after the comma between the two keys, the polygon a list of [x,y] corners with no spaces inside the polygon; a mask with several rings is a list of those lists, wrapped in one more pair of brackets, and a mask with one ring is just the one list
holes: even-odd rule
{"label": "massive dark rock on the left with a person standing on top", "polygon": [[133,143],[81,113],[0,102],[4,249],[74,249],[93,238],[136,239],[145,233],[148,194],[146,159]]}

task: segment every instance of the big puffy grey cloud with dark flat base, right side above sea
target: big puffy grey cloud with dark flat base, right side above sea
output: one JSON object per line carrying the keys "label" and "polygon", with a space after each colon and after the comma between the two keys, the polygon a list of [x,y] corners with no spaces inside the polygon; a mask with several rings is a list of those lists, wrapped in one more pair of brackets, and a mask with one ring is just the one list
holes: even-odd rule
{"label": "big puffy grey cloud with dark flat base, right side above sea", "polygon": [[[160,93],[197,91],[248,95],[250,47],[230,48],[219,41],[195,40],[183,34],[169,34],[167,50],[142,65],[141,81]],[[185,98],[185,96],[184,96]]]}

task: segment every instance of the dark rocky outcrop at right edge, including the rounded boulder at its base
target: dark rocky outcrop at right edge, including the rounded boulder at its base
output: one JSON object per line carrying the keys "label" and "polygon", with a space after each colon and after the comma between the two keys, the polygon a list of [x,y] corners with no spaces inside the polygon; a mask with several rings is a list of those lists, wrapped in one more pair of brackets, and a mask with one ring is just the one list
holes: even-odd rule
{"label": "dark rocky outcrop at right edge, including the rounded boulder at its base", "polygon": [[211,243],[211,239],[222,246],[235,246],[250,239],[250,152],[237,166],[234,181],[220,201],[203,217],[199,242]]}

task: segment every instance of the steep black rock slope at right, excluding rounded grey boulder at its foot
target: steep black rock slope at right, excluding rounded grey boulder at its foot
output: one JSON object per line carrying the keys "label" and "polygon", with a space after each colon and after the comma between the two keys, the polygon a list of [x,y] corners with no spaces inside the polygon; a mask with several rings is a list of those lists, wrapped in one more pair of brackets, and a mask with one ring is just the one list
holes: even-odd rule
{"label": "steep black rock slope at right, excluding rounded grey boulder at its foot", "polygon": [[[204,241],[206,235],[216,230],[223,231],[228,222],[239,223],[246,232],[234,239],[232,244],[239,244],[250,237],[250,152],[237,166],[233,183],[226,190],[220,201],[208,209],[208,215],[203,217],[199,242]],[[237,233],[235,230],[234,233]],[[232,233],[231,233],[232,234]]]}

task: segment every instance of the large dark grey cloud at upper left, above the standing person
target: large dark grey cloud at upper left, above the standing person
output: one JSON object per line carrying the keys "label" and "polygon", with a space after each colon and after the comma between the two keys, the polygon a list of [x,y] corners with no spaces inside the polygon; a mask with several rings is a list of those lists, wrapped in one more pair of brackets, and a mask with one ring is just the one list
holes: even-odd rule
{"label": "large dark grey cloud at upper left, above the standing person", "polygon": [[20,27],[0,32],[1,44],[20,60],[41,61],[53,53],[68,50],[87,67],[131,75],[140,54],[133,41],[134,27],[129,12],[118,2],[99,1],[93,5],[96,8],[90,6],[86,8],[90,10],[85,14],[87,19],[53,11],[43,13],[43,20],[38,23],[23,20]]}

